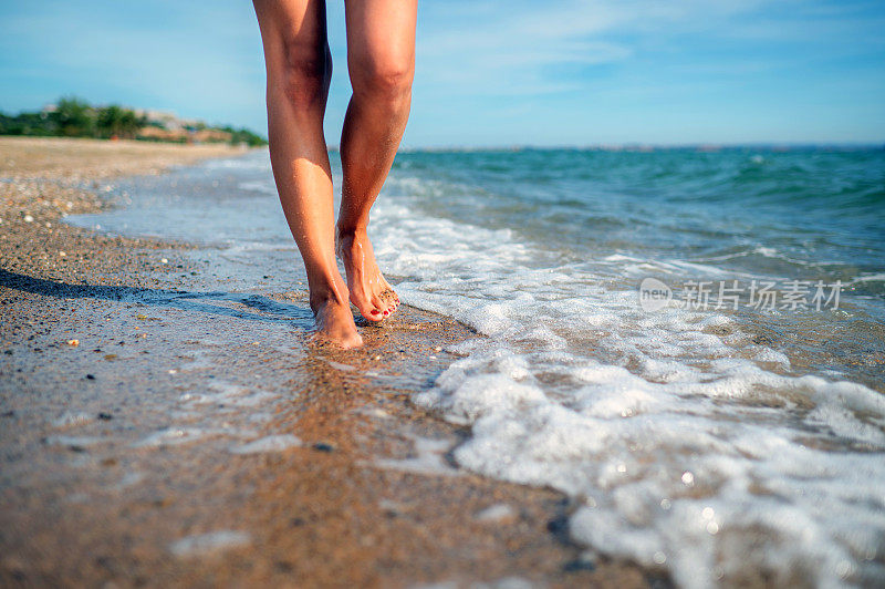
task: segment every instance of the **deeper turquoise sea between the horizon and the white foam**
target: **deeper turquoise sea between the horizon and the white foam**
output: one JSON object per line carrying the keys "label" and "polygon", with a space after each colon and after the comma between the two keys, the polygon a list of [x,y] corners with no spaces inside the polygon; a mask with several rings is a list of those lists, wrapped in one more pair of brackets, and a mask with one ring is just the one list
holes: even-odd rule
{"label": "deeper turquoise sea between the horizon and the white foam", "polygon": [[565,255],[827,281],[885,270],[885,149],[416,152],[394,169],[427,183],[421,206],[436,216],[512,228]]}

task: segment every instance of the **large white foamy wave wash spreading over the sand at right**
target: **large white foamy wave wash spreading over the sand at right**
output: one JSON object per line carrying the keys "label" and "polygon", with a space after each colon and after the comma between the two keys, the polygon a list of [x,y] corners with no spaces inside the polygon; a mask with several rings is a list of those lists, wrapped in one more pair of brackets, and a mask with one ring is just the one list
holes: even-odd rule
{"label": "large white foamy wave wash spreading over the sand at right", "polygon": [[404,277],[400,299],[486,335],[454,345],[465,358],[415,396],[471,425],[461,467],[582,498],[574,539],[677,586],[748,570],[760,583],[885,581],[883,395],[785,375],[787,355],[732,316],[646,313],[622,278],[723,276],[715,266],[563,259],[421,216],[408,195],[428,188],[392,184],[403,196],[378,200],[373,242]]}

